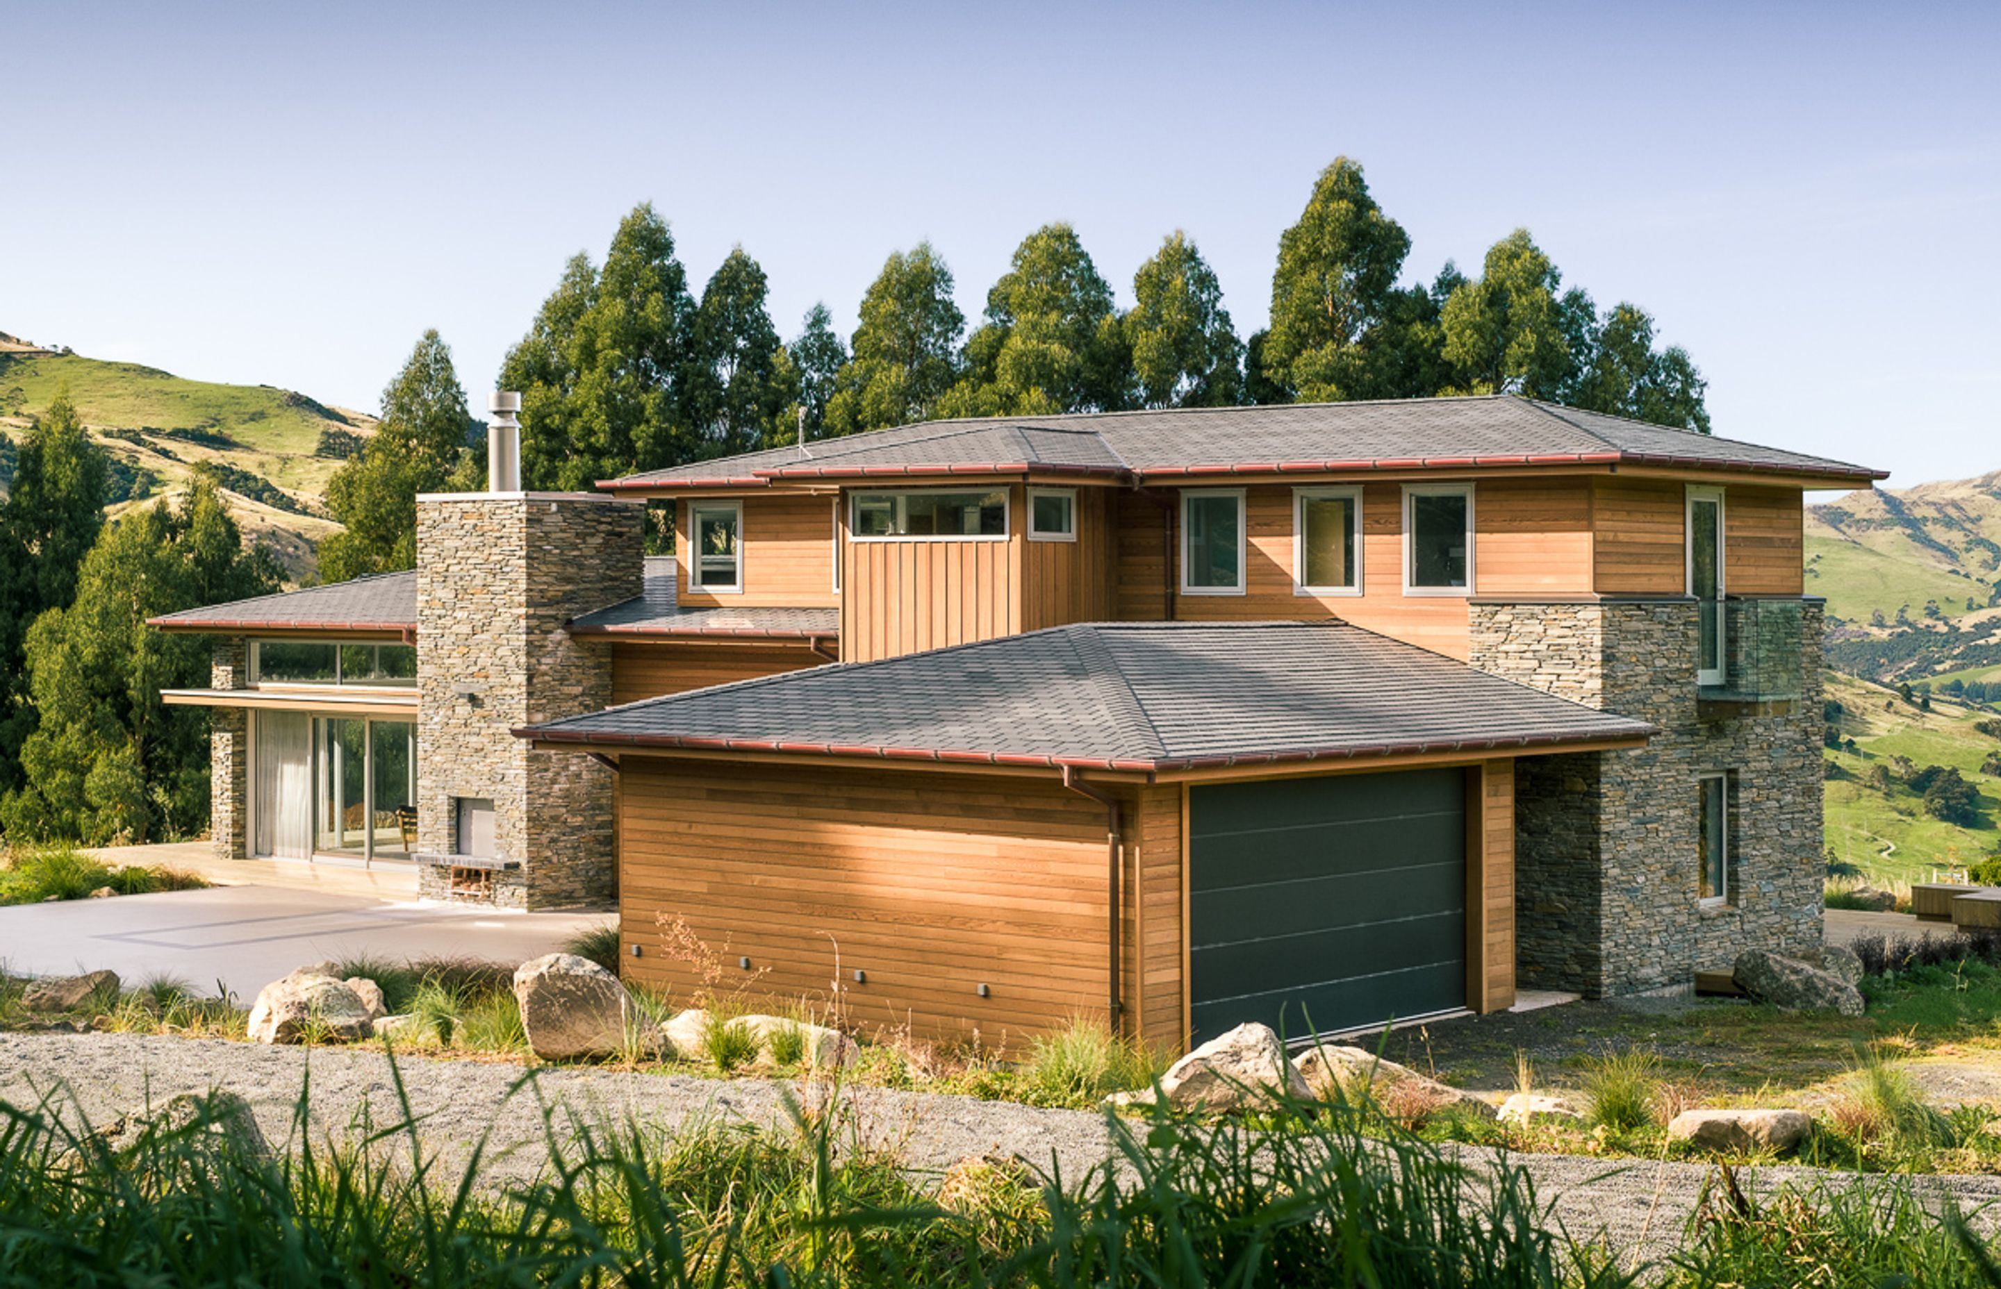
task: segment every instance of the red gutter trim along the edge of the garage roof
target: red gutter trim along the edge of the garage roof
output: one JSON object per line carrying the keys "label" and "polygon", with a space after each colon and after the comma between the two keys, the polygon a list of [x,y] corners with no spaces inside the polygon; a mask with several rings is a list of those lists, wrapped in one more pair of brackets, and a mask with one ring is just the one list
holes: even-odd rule
{"label": "red gutter trim along the edge of the garage roof", "polygon": [[604,747],[604,749],[682,749],[682,751],[720,751],[720,753],[786,753],[786,755],[816,755],[816,757],[872,757],[878,761],[930,761],[930,763],[952,763],[952,765],[1011,765],[1029,769],[1097,769],[1097,771],[1207,771],[1207,769],[1233,769],[1241,765],[1287,765],[1299,761],[1373,761],[1377,757],[1405,757],[1405,755],[1431,755],[1431,753],[1485,753],[1497,749],[1527,749],[1527,747],[1563,747],[1569,743],[1599,743],[1605,739],[1651,739],[1661,733],[1657,727],[1647,727],[1647,733],[1633,735],[1607,735],[1605,731],[1577,731],[1577,733],[1557,733],[1541,737],[1517,737],[1517,739],[1421,739],[1411,743],[1379,743],[1371,747],[1323,747],[1323,749],[1293,749],[1279,753],[1243,753],[1227,757],[1167,757],[1159,761],[1145,761],[1133,757],[1049,757],[1037,753],[972,753],[972,751],[950,751],[950,749],[916,749],[916,747],[858,747],[840,743],[786,743],[780,739],[698,739],[692,735],[616,735],[616,733],[570,733],[562,729],[516,729],[512,731],[516,739],[532,739],[536,743],[568,743],[574,747]]}

